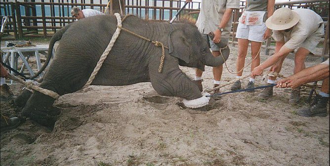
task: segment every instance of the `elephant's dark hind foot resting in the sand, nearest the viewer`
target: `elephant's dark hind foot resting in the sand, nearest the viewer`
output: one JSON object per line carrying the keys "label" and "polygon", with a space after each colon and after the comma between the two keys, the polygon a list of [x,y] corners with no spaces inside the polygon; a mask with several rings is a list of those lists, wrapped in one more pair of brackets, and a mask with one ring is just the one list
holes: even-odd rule
{"label": "elephant's dark hind foot resting in the sand, nearest the viewer", "polygon": [[57,116],[60,114],[60,110],[55,107],[48,109],[50,111],[47,112],[42,112],[37,110],[31,111],[31,110],[23,109],[22,114],[23,116],[31,118],[31,120],[37,122],[38,124],[53,129],[55,122],[57,121]]}

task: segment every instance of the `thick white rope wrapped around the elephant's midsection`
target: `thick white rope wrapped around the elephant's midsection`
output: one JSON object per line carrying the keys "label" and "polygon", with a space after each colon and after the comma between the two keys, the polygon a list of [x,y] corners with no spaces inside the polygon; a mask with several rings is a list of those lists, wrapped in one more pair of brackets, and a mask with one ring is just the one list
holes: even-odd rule
{"label": "thick white rope wrapped around the elephant's midsection", "polygon": [[[122,27],[122,18],[120,16],[120,14],[119,13],[115,13],[115,16],[117,17],[118,27]],[[107,56],[108,56],[108,54],[109,54],[112,46],[114,46],[117,38],[119,37],[120,32],[121,32],[121,28],[117,28],[116,29],[116,32],[112,36],[111,41],[109,42],[109,44],[107,46],[107,48],[104,50],[103,54],[101,55],[100,60],[97,62],[94,71],[90,75],[87,83],[85,85],[83,85],[82,88],[85,88],[85,87],[89,86],[93,82],[93,80],[95,79],[95,76],[97,75],[97,72],[100,70],[100,68],[102,67],[102,64],[103,64],[104,60],[107,58]]]}

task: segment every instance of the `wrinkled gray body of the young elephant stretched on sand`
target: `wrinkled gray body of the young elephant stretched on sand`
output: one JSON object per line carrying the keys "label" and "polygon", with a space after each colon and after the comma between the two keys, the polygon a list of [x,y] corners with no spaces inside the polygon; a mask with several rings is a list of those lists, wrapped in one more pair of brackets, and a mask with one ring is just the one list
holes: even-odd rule
{"label": "wrinkled gray body of the young elephant stretched on sand", "polygon": [[[40,87],[60,95],[80,90],[110,42],[116,25],[115,16],[95,16],[69,24],[57,32],[50,41],[49,49],[53,48],[56,41],[60,42]],[[151,82],[160,95],[193,100],[202,97],[202,94],[198,86],[182,73],[179,65],[204,71],[204,65],[218,66],[224,63],[222,57],[212,56],[195,25],[151,22],[129,16],[123,21],[123,27],[168,45],[163,72],[158,72],[162,48],[122,30],[91,85]],[[23,95],[29,96],[26,93]],[[52,107],[53,102],[53,98],[35,92],[26,104],[22,102],[21,106],[25,104],[23,115],[40,124],[53,126],[56,122],[54,116],[59,114]]]}

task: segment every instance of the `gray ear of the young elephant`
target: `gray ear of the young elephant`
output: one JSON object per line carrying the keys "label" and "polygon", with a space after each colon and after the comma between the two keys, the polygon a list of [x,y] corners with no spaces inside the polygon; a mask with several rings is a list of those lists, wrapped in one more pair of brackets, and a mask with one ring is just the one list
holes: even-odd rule
{"label": "gray ear of the young elephant", "polygon": [[181,30],[174,30],[168,36],[169,54],[177,57],[186,63],[190,62],[189,43]]}

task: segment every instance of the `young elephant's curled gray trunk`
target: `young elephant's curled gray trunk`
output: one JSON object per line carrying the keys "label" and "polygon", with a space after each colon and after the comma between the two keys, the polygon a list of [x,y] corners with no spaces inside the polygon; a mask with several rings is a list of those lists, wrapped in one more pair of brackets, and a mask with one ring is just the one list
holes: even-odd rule
{"label": "young elephant's curled gray trunk", "polygon": [[230,49],[228,46],[221,48],[219,56],[217,57],[213,57],[212,55],[205,56],[204,64],[206,66],[213,66],[213,67],[222,65],[228,59],[229,53],[230,53]]}

